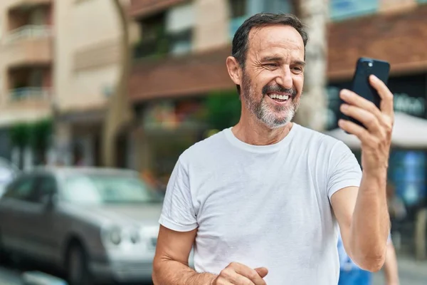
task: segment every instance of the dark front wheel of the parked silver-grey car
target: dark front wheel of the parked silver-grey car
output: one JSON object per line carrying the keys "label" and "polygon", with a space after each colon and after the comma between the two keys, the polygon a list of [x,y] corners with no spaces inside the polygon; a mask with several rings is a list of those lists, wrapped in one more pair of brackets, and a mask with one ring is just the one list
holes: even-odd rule
{"label": "dark front wheel of the parked silver-grey car", "polygon": [[67,276],[70,285],[92,284],[85,251],[78,244],[73,244],[68,250]]}

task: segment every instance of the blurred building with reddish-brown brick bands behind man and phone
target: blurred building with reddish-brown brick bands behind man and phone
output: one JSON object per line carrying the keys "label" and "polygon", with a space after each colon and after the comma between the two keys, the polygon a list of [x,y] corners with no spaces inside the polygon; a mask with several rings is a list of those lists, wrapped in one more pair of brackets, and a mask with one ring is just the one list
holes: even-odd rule
{"label": "blurred building with reddish-brown brick bands behind man and phone", "polygon": [[[395,109],[427,118],[426,2],[327,2],[328,129],[337,127],[339,88],[349,86],[359,56],[389,61],[389,86],[395,94]],[[135,46],[130,78],[130,98],[139,110],[139,127],[134,133],[140,169],[166,174],[182,150],[203,138],[204,125],[197,119],[201,102],[212,91],[234,88],[225,59],[231,53],[231,38],[236,28],[260,11],[292,12],[290,3],[288,0],[131,1],[130,16],[139,23],[142,32]],[[427,191],[422,186],[427,180],[426,156],[422,151],[396,152],[397,158],[392,158],[397,161],[394,165],[406,163],[406,158],[401,157],[416,157],[413,160],[418,169],[426,170],[418,170],[416,180],[396,178],[401,190],[416,185],[419,193]],[[398,173],[399,167],[391,171]]]}

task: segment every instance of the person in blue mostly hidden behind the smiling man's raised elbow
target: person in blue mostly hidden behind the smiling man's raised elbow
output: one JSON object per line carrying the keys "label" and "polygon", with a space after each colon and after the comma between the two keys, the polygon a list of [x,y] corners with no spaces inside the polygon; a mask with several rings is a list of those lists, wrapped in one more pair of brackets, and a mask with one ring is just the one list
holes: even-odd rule
{"label": "person in blue mostly hidden behind the smiling man's raised elbow", "polygon": [[[338,239],[339,254],[339,282],[338,285],[371,285],[372,274],[354,264],[345,252],[341,236]],[[383,266],[384,277],[387,285],[399,285],[399,271],[397,268],[396,251],[394,250],[391,237],[387,241],[386,261]]]}

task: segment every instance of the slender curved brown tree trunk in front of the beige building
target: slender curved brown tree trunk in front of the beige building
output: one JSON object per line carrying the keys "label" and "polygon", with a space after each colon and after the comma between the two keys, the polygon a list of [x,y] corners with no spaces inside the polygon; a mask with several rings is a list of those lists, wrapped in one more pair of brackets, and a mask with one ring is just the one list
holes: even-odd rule
{"label": "slender curved brown tree trunk in front of the beige building", "polygon": [[120,2],[120,0],[112,0],[119,18],[122,38],[120,39],[120,77],[115,86],[115,93],[111,95],[107,103],[107,115],[102,133],[102,164],[107,167],[116,165],[115,141],[117,133],[133,119],[133,112],[127,95],[127,81],[129,80],[131,65],[129,23],[127,12]]}

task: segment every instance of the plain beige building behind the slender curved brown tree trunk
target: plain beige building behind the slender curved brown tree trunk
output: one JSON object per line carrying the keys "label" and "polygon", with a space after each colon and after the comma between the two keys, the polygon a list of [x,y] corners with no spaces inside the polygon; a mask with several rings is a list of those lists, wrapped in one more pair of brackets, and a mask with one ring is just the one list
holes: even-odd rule
{"label": "plain beige building behind the slender curved brown tree trunk", "polygon": [[57,0],[54,17],[56,157],[100,165],[106,103],[120,71],[117,11],[110,0]]}

